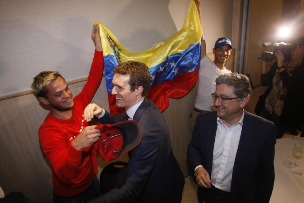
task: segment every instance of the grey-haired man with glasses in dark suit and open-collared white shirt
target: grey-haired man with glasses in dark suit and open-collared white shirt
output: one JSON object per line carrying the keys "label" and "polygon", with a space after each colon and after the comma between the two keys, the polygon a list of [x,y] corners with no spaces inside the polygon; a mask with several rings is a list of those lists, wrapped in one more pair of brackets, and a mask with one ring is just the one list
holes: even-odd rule
{"label": "grey-haired man with glasses in dark suit and open-collared white shirt", "polygon": [[247,76],[220,75],[212,94],[217,110],[197,117],[187,155],[201,203],[269,202],[275,125],[243,109],[250,93]]}

